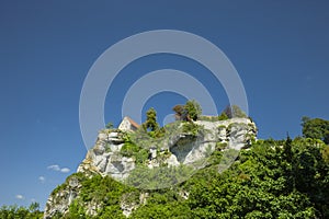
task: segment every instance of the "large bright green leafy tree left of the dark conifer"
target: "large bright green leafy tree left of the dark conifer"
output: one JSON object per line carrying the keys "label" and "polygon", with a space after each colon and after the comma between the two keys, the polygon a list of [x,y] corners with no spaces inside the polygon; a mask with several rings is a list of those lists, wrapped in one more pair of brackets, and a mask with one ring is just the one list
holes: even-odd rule
{"label": "large bright green leafy tree left of the dark conifer", "polygon": [[293,162],[282,159],[282,142],[272,142],[240,151],[239,162],[222,174],[212,168],[195,174],[188,200],[192,218],[326,218],[316,215],[308,194],[290,187],[284,170]]}

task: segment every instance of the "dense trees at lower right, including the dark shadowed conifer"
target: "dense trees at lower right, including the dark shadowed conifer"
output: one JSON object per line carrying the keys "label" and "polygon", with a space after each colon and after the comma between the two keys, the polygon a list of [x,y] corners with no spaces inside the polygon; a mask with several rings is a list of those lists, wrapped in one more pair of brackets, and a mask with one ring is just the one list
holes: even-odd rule
{"label": "dense trees at lower right, including the dark shadowed conifer", "polygon": [[259,141],[223,174],[209,168],[194,177],[191,210],[195,218],[328,218],[324,149],[311,139]]}

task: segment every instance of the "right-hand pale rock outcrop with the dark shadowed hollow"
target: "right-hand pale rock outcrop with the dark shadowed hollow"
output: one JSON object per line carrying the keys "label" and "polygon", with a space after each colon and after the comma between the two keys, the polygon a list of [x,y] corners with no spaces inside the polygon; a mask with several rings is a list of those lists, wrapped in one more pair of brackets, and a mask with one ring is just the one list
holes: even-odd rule
{"label": "right-hand pale rock outcrop with the dark shadowed hollow", "polygon": [[257,137],[257,127],[249,118],[197,120],[195,124],[202,127],[201,135],[195,137],[191,134],[180,134],[177,141],[168,146],[180,163],[193,164],[206,159],[218,143],[227,146],[223,149],[240,150]]}

